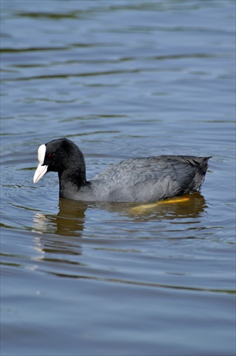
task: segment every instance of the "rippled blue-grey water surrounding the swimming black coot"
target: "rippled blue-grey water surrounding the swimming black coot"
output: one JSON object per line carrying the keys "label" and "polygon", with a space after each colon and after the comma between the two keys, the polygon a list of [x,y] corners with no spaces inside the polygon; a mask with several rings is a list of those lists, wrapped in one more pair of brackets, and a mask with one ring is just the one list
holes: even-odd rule
{"label": "rippled blue-grey water surrounding the swimming black coot", "polygon": [[[187,202],[34,185],[69,137],[90,179],[211,155]],[[235,1],[1,1],[1,355],[235,355]]]}

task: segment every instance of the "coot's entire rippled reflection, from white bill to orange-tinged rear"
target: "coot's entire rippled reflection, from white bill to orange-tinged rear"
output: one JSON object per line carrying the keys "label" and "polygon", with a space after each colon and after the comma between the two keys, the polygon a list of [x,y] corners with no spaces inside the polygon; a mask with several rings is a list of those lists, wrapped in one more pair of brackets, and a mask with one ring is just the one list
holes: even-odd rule
{"label": "coot's entire rippled reflection, from white bill to orange-tinged rear", "polygon": [[[99,209],[112,213],[110,220],[113,221],[112,219],[115,219],[116,223],[118,216],[120,224],[122,224],[124,218],[130,219],[134,224],[136,222],[154,220],[171,220],[174,224],[175,219],[178,219],[178,224],[180,219],[181,221],[183,219],[183,224],[192,223],[205,211],[205,199],[200,192],[186,194],[182,198],[173,199],[173,201],[159,201],[156,204],[87,204],[81,201],[60,199],[58,214],[35,213],[33,217],[33,230],[39,233],[35,237],[34,247],[40,252],[36,259],[43,259],[44,261],[50,262],[67,261],[73,264],[80,264],[75,257],[82,254],[83,231],[86,221],[89,226],[90,212],[92,209],[96,209],[96,214]],[[96,239],[100,237],[99,234],[102,236],[102,226],[103,224],[107,224],[107,216],[105,219],[106,222],[97,220],[95,229],[96,235],[93,228],[91,233],[90,229],[87,228],[88,236],[91,238],[96,237]],[[132,227],[132,230],[133,229],[135,229],[135,225]],[[139,226],[136,226],[136,229],[138,231]],[[129,234],[128,230],[127,234]],[[99,241],[97,241],[97,243],[99,243]],[[55,257],[55,255],[57,255],[57,257]],[[65,258],[65,255],[68,257]]]}

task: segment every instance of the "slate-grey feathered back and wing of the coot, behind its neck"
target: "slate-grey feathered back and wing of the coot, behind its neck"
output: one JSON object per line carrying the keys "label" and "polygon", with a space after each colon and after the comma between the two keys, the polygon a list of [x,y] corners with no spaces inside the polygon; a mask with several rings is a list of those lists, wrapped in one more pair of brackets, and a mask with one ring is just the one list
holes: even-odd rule
{"label": "slate-grey feathered back and wing of the coot, behind its neck", "polygon": [[[103,196],[116,201],[157,201],[198,189],[208,158],[159,156],[126,159],[97,174],[92,182],[106,189]],[[104,189],[104,188],[103,188]]]}

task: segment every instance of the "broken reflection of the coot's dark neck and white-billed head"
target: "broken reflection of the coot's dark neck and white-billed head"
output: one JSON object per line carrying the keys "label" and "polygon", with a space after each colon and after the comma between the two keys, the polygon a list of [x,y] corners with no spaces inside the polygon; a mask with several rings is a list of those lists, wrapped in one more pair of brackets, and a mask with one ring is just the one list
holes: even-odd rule
{"label": "broken reflection of the coot's dark neck and white-billed head", "polygon": [[[85,211],[88,204],[79,201],[60,199],[58,214],[35,213],[33,231],[34,248],[38,256],[34,261],[45,261],[48,273],[53,273],[50,266],[80,265],[77,256],[82,255],[80,238],[85,224]],[[66,236],[66,239],[65,239]],[[58,264],[59,263],[59,264]],[[65,272],[65,271],[64,271]],[[68,273],[68,276],[71,273]]]}

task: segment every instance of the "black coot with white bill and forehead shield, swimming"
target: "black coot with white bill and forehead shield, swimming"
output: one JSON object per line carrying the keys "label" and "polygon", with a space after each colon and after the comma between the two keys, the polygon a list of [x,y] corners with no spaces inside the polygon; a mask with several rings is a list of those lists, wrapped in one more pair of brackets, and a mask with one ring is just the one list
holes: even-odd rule
{"label": "black coot with white bill and forehead shield, swimming", "polygon": [[74,142],[60,138],[38,148],[33,182],[47,172],[58,172],[60,197],[65,199],[158,201],[198,189],[204,182],[209,158],[173,155],[125,159],[88,182],[82,152]]}

